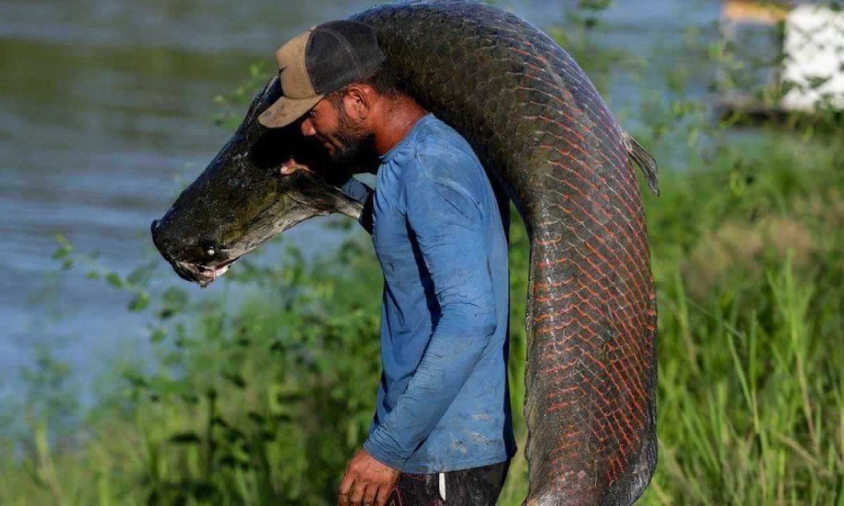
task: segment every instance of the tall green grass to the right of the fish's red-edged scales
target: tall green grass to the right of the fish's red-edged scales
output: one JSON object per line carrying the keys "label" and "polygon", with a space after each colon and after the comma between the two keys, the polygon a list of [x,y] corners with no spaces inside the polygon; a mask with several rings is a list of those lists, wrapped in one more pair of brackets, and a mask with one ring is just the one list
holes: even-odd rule
{"label": "tall green grass to the right of the fish's red-edged scales", "polygon": [[830,138],[791,140],[725,150],[652,208],[689,221],[652,229],[661,459],[645,503],[844,501],[844,166]]}

